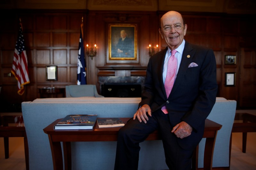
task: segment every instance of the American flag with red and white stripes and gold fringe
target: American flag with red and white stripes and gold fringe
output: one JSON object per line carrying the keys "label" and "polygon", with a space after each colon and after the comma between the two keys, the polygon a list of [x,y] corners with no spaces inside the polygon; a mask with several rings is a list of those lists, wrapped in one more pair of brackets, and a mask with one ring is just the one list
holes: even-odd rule
{"label": "American flag with red and white stripes and gold fringe", "polygon": [[14,50],[14,57],[12,62],[12,74],[18,81],[18,94],[22,95],[25,91],[24,85],[30,83],[28,78],[28,59],[25,50],[25,42],[22,32],[22,25],[20,23],[20,30]]}

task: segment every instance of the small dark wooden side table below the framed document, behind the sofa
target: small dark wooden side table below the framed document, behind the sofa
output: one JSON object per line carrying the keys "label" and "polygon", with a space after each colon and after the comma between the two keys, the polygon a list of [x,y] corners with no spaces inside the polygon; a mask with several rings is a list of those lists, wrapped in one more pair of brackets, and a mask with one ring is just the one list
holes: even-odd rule
{"label": "small dark wooden side table below the framed document, behind the sofa", "polygon": [[57,98],[59,97],[59,94],[62,95],[61,97],[66,97],[65,89],[66,88],[44,87],[38,88],[38,91],[40,93],[40,98]]}

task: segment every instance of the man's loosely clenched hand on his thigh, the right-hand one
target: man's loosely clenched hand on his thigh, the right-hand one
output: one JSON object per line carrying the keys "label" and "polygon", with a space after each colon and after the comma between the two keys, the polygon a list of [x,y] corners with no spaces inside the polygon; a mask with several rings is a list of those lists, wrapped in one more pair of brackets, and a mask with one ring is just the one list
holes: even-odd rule
{"label": "man's loosely clenched hand on his thigh, the right-hand one", "polygon": [[180,139],[183,139],[184,137],[188,137],[189,135],[191,135],[191,132],[192,132],[192,127],[184,121],[180,122],[179,124],[177,124],[172,128],[172,133],[174,133]]}

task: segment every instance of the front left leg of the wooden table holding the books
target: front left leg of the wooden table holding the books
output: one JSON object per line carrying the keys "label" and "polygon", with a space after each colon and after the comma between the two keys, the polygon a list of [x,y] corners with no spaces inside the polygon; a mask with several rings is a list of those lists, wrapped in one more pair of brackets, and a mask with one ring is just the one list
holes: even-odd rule
{"label": "front left leg of the wooden table holding the books", "polygon": [[63,170],[63,159],[60,142],[52,142],[51,135],[48,135],[52,151],[52,163],[54,170]]}

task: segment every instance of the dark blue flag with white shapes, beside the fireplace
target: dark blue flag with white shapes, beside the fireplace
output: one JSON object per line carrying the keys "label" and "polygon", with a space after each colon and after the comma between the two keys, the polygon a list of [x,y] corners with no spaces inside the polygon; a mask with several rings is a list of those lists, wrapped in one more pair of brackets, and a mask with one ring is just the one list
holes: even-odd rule
{"label": "dark blue flag with white shapes, beside the fireplace", "polygon": [[78,58],[77,58],[77,85],[86,85],[86,64],[84,59],[83,24],[81,24]]}

